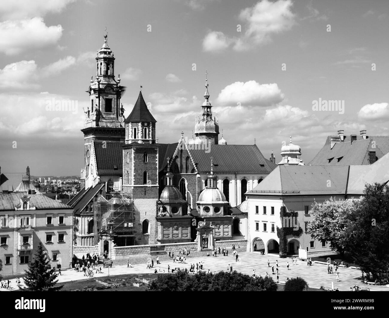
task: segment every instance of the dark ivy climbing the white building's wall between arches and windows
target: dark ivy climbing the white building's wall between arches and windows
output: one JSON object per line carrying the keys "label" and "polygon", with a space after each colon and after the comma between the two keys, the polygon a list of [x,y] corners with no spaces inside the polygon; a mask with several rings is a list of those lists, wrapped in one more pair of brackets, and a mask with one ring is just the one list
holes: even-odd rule
{"label": "dark ivy climbing the white building's wall between arches and windows", "polygon": [[[292,217],[290,219],[290,217]],[[277,226],[277,237],[280,239],[280,257],[285,258],[287,253],[287,236],[293,235],[296,237],[300,237],[303,233],[303,229],[299,226],[297,230],[294,229],[294,225],[297,225],[298,222],[293,222],[290,224],[289,220],[298,220],[298,212],[294,212],[291,210],[290,212],[287,212],[286,207],[281,207],[280,209],[280,218],[281,218],[281,224],[282,228],[279,228]],[[288,218],[288,222],[284,221]]]}

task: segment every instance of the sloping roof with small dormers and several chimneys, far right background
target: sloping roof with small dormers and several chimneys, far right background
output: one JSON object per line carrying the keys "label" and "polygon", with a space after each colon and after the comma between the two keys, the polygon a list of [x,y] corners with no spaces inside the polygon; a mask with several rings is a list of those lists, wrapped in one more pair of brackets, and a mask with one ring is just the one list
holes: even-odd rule
{"label": "sloping roof with small dormers and several chimneys, far right background", "polygon": [[368,165],[369,151],[375,151],[378,159],[389,152],[389,136],[367,136],[366,139],[356,136],[356,141],[352,143],[350,137],[345,136],[344,141],[337,142],[331,149],[332,137],[338,136],[328,136],[324,147],[308,165]]}

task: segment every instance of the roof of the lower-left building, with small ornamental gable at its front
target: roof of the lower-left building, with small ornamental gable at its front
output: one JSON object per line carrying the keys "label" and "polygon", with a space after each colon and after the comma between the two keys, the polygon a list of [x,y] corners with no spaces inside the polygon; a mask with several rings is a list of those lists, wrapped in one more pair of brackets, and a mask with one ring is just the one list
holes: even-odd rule
{"label": "roof of the lower-left building, with small ornamental gable at its front", "polygon": [[27,192],[0,193],[0,210],[15,210],[24,195],[31,197],[30,204],[36,209],[70,209],[66,204],[48,198],[42,194],[28,194]]}

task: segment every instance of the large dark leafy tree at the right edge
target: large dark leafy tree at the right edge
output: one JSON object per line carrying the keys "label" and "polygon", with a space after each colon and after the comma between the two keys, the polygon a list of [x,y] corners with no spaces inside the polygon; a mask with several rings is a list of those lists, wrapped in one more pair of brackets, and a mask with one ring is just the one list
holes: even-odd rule
{"label": "large dark leafy tree at the right edge", "polygon": [[364,197],[349,215],[347,250],[365,273],[386,272],[389,266],[389,186],[366,184]]}

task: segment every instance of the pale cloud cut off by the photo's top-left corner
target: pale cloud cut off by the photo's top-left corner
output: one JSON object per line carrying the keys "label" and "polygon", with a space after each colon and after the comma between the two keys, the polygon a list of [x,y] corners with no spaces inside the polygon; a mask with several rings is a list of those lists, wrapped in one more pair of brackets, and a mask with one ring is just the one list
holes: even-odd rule
{"label": "pale cloud cut off by the photo's top-left corner", "polygon": [[60,12],[68,3],[76,0],[18,0],[0,1],[2,19],[25,19],[43,17],[48,12]]}

